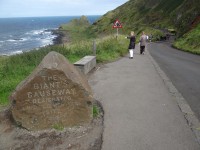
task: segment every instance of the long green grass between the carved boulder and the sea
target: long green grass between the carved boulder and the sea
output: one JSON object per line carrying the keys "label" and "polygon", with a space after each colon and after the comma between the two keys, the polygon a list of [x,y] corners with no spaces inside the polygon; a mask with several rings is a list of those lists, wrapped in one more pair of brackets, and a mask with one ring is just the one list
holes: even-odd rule
{"label": "long green grass between the carved boulder and the sea", "polygon": [[[54,45],[32,50],[20,55],[0,57],[0,105],[8,105],[9,95],[24,80],[44,56],[50,51],[64,55],[71,63],[92,54],[93,40],[72,42],[67,45]],[[127,53],[128,40],[109,36],[96,39],[97,62],[113,61]]]}

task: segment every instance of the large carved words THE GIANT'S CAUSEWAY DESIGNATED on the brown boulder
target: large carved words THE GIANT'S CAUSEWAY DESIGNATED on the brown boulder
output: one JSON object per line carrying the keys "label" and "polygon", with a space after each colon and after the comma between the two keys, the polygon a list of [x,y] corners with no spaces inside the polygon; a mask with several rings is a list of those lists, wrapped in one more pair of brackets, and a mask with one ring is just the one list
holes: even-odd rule
{"label": "large carved words THE GIANT'S CAUSEWAY DESIGNATED on the brown boulder", "polygon": [[[32,91],[27,92],[26,101],[33,104],[40,103],[61,103],[62,101],[71,100],[71,95],[75,95],[76,91],[69,88],[66,82],[61,83],[57,75],[42,76],[43,83],[34,83]],[[69,89],[68,89],[69,88]]]}

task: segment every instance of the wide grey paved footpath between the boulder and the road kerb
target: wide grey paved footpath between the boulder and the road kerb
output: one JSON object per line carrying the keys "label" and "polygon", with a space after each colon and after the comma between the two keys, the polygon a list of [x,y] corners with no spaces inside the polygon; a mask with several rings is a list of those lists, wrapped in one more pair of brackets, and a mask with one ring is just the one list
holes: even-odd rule
{"label": "wide grey paved footpath between the boulder and the road kerb", "polygon": [[102,150],[200,150],[148,53],[124,57],[89,79],[102,103]]}

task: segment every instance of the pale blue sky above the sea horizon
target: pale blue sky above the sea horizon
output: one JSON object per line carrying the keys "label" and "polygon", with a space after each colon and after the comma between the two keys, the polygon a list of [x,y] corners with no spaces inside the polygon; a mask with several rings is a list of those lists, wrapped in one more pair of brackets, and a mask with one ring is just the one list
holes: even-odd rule
{"label": "pale blue sky above the sea horizon", "polygon": [[0,18],[103,15],[128,0],[0,0]]}

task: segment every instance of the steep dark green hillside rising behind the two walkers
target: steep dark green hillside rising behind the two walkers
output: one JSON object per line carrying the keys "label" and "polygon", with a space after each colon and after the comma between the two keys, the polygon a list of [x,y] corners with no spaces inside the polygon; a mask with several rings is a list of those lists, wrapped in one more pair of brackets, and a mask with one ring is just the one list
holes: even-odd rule
{"label": "steep dark green hillside rising behind the two walkers", "polygon": [[[96,35],[114,34],[116,30],[112,26],[118,19],[123,25],[119,29],[121,34],[129,34],[133,30],[137,35],[145,31],[159,37],[165,34],[163,31],[173,29],[177,32],[177,38],[183,38],[189,32],[194,32],[200,23],[199,17],[200,0],[129,0],[103,15],[90,26],[90,32]],[[194,45],[200,51],[198,43],[193,43],[192,47]]]}

